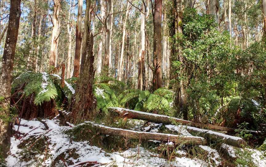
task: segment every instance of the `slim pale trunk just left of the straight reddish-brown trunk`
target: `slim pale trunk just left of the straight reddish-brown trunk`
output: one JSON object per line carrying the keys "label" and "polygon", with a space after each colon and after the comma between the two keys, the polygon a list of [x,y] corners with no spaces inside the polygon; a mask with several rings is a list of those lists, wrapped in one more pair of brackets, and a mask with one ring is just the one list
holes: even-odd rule
{"label": "slim pale trunk just left of the straight reddish-brown trunk", "polygon": [[[73,1],[74,4],[74,1]],[[73,26],[72,23],[70,23],[70,15],[72,11],[72,0],[70,0],[70,7],[69,7],[69,12],[68,12],[68,21],[69,24],[67,24],[67,33],[68,33],[68,50],[67,50],[67,79],[71,78],[71,51],[72,51],[72,30]]]}

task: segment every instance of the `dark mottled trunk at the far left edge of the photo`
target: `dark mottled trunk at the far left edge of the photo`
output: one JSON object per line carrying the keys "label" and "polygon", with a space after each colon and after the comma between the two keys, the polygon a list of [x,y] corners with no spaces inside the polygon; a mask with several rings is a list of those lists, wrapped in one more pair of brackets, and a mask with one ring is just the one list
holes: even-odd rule
{"label": "dark mottled trunk at the far left edge of the photo", "polygon": [[[0,97],[7,98],[11,95],[12,71],[14,65],[15,49],[18,39],[19,20],[21,15],[20,0],[10,1],[9,22],[6,32],[6,43],[2,57],[2,68],[0,71]],[[0,154],[2,157],[7,157],[7,152],[10,147],[11,126],[8,120],[10,115],[10,101],[6,99],[0,102]],[[2,149],[2,150],[1,150]]]}

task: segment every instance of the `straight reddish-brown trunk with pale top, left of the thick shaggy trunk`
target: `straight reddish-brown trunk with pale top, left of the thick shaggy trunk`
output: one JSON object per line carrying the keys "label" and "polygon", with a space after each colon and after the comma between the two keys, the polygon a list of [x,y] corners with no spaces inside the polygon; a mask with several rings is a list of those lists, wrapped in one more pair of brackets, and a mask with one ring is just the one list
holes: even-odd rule
{"label": "straight reddish-brown trunk with pale top, left of the thick shaggy trunk", "polygon": [[80,53],[81,53],[81,40],[82,40],[81,39],[82,6],[83,6],[83,0],[79,0],[78,20],[76,26],[76,48],[75,48],[74,71],[73,71],[74,77],[79,77],[79,62],[80,62]]}

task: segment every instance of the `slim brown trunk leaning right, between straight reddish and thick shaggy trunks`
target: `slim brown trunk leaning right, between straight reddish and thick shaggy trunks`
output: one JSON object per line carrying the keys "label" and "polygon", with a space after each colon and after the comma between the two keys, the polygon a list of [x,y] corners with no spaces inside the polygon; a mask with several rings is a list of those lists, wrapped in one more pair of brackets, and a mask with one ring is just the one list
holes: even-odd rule
{"label": "slim brown trunk leaning right, between straight reddish and thick shaggy trunks", "polygon": [[83,37],[82,37],[82,49],[81,49],[81,64],[80,64],[80,73],[84,70],[84,63],[86,61],[86,41],[87,41],[87,32],[91,28],[91,1],[86,0],[86,10],[85,10],[85,16],[84,20],[84,31],[83,31]]}

